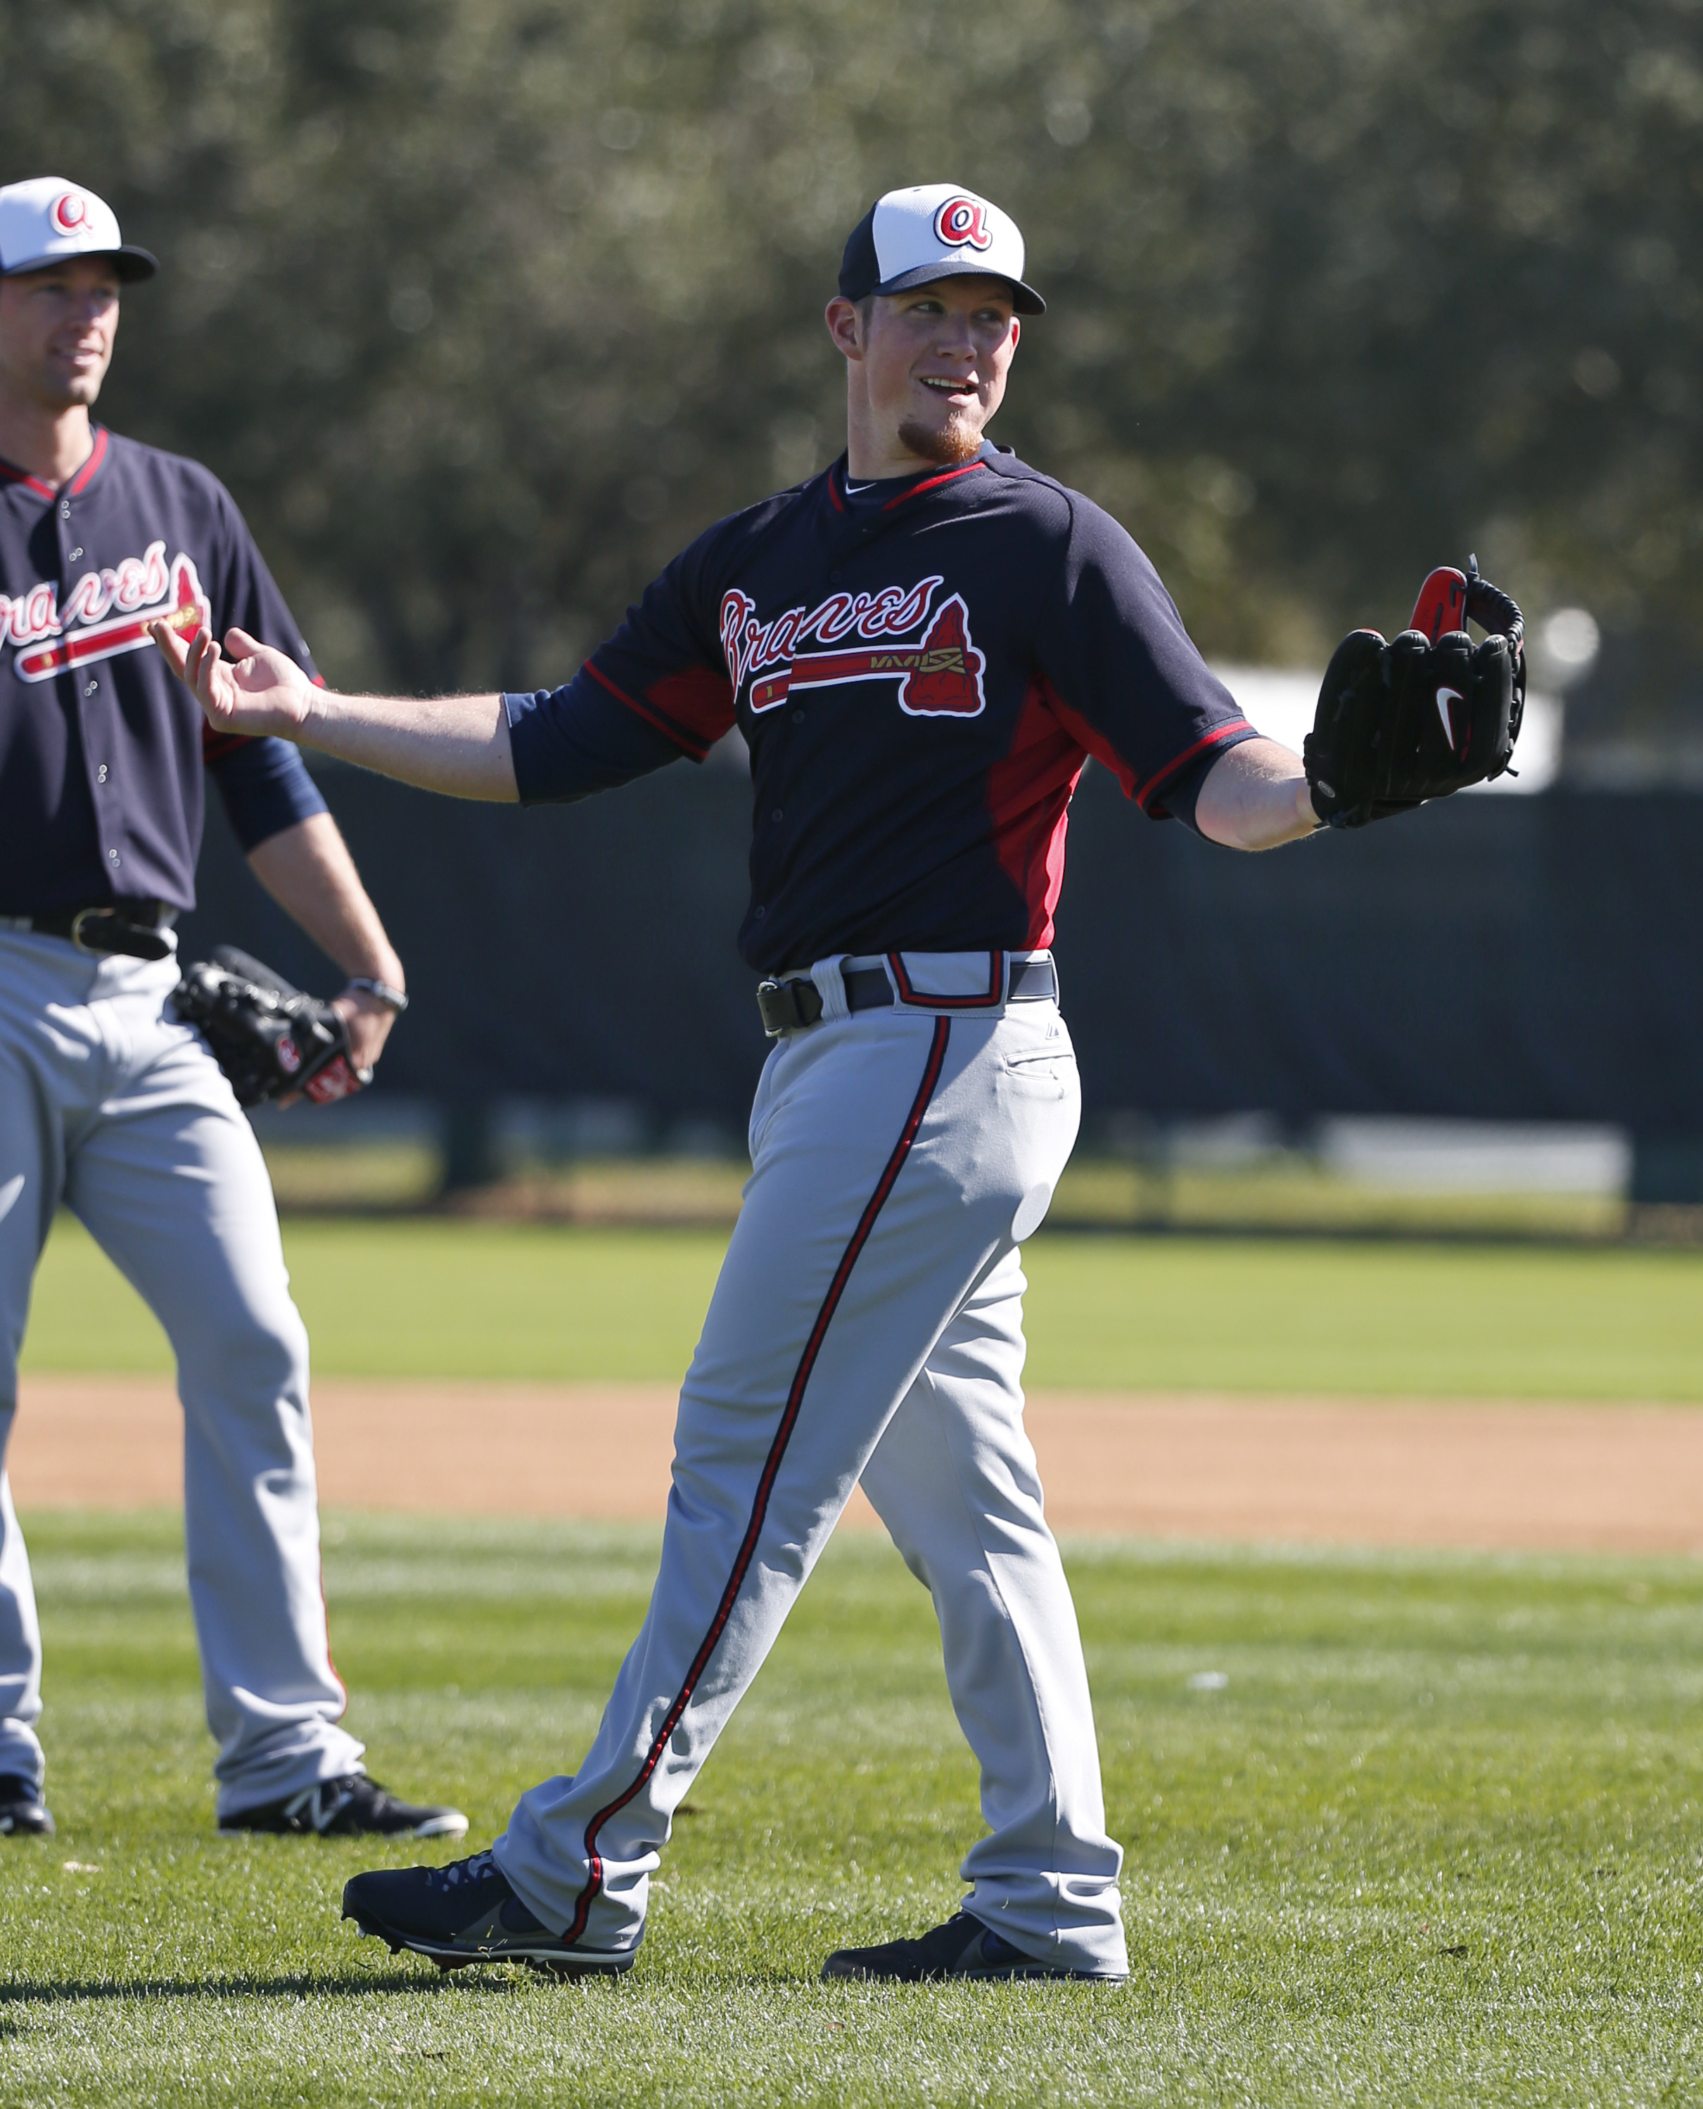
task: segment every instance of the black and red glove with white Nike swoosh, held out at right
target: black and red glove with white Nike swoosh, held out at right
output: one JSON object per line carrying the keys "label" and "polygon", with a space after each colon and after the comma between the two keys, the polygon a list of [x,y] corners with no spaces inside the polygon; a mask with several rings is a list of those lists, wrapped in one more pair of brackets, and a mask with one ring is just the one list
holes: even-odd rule
{"label": "black and red glove with white Nike swoosh, held out at right", "polygon": [[1427,578],[1414,628],[1391,643],[1376,631],[1345,637],[1303,744],[1317,816],[1366,827],[1501,776],[1526,709],[1524,635],[1526,618],[1473,557],[1465,574]]}

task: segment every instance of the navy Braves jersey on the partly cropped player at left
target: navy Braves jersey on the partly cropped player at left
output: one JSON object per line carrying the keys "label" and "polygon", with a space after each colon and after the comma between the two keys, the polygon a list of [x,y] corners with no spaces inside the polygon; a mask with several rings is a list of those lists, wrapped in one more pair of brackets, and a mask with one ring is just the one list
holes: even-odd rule
{"label": "navy Braves jersey on the partly cropped player at left", "polygon": [[0,913],[114,898],[194,907],[202,770],[244,850],[325,812],[287,740],[207,730],[148,637],[240,624],[308,645],[230,494],[196,462],[95,428],[53,489],[0,462]]}

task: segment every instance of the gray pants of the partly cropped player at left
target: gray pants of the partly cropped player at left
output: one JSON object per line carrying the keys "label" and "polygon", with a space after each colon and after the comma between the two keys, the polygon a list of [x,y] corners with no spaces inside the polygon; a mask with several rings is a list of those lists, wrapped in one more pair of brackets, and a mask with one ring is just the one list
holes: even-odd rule
{"label": "gray pants of the partly cropped player at left", "polygon": [[[0,930],[0,1462],[42,1242],[63,1202],[167,1331],[219,1816],[360,1769],[320,1592],[308,1335],[272,1183],[173,960]],[[99,1337],[101,1314],[91,1310]],[[0,1774],[40,1782],[42,1645],[0,1472]]]}

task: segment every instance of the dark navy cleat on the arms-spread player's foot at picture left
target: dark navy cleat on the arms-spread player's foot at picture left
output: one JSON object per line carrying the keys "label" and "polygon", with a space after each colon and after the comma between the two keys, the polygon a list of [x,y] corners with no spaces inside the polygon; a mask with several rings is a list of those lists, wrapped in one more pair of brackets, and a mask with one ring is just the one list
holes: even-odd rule
{"label": "dark navy cleat on the arms-spread player's foot at picture left", "polygon": [[637,1961],[626,1955],[569,1949],[510,1890],[489,1852],[449,1866],[373,1869],[344,1883],[344,1917],[390,1953],[428,1955],[438,1970],[468,1963],[529,1963],[550,1976],[618,1976]]}

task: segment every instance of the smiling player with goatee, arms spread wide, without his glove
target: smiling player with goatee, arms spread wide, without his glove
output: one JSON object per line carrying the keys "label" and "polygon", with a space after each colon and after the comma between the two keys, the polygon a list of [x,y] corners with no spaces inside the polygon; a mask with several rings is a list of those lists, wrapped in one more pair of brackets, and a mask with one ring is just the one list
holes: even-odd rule
{"label": "smiling player with goatee, arms spread wide, without his glove", "polygon": [[[1064,816],[1090,755],[1147,814],[1237,848],[1309,835],[1324,806],[1130,536],[982,441],[1018,316],[1041,312],[1022,270],[986,200],[881,198],[826,316],[847,453],[710,527],[567,688],[329,696],[242,633],[236,664],[158,633],[219,730],[462,797],[578,799],[702,759],[733,723],[750,747],[740,947],[776,1044],[643,1632],[580,1769],[523,1795],[489,1852],[344,1892],[363,1932],[445,1968],[632,1963],[672,1812],[862,1481],[934,1597],[988,1829],[946,1926],[824,1974],[1128,1970],[1075,1607],[1022,1428],[1020,1244],[1079,1107],[1045,949]],[[666,1017],[668,987],[632,993]]]}

